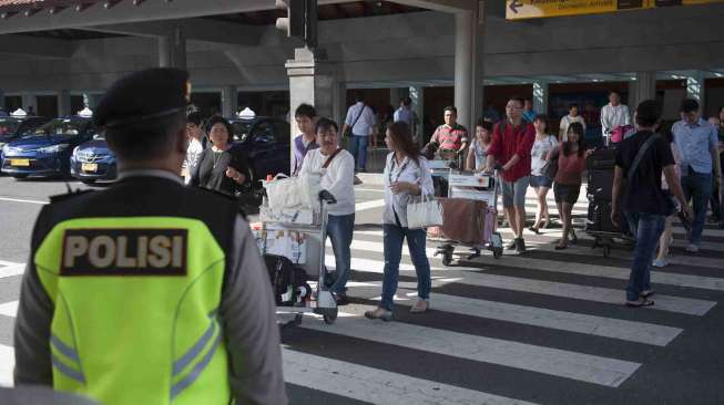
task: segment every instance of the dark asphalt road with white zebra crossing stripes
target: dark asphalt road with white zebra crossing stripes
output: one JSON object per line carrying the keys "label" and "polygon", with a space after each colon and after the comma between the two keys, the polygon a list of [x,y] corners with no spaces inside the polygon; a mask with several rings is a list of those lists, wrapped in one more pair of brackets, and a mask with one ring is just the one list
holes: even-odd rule
{"label": "dark asphalt road with white zebra crossing stripes", "polygon": [[[21,279],[7,274],[28,260],[42,202],[64,190],[62,181],[0,177],[0,384],[9,382]],[[357,187],[353,304],[334,325],[308,318],[283,331],[293,403],[724,404],[724,230],[707,227],[702,251],[689,256],[676,229],[672,263],[654,269],[650,309],[621,305],[631,252],[603,258],[582,231],[564,251],[552,249],[553,226],[527,233],[524,255],[458,256],[451,267],[428,241],[432,310],[407,311],[416,278],[405,248],[396,322],[383,323],[360,316],[380,294],[381,197],[380,187]],[[585,209],[580,200],[574,214]]]}

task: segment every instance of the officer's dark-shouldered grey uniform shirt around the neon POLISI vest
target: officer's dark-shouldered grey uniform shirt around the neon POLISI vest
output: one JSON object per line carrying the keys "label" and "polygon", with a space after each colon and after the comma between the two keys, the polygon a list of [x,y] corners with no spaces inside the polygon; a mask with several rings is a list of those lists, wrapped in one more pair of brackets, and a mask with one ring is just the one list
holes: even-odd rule
{"label": "officer's dark-shouldered grey uniform shirt around the neon POLISI vest", "polygon": [[39,280],[33,256],[55,224],[88,217],[186,217],[206,222],[226,252],[220,315],[231,357],[230,383],[237,401],[285,404],[271,283],[249,226],[237,210],[233,200],[185,187],[181,177],[162,170],[125,172],[108,190],[44,206],[33,229],[22,281],[14,335],[16,382],[52,385],[49,341],[53,305]]}

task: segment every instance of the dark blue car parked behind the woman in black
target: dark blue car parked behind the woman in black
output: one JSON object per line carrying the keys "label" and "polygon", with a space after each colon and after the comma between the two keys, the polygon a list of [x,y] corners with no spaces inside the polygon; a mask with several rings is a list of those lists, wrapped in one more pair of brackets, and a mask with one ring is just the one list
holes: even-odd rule
{"label": "dark blue car parked behind the woman in black", "polygon": [[230,120],[234,129],[234,147],[243,150],[252,166],[254,187],[267,175],[289,174],[289,123],[284,120],[255,116]]}

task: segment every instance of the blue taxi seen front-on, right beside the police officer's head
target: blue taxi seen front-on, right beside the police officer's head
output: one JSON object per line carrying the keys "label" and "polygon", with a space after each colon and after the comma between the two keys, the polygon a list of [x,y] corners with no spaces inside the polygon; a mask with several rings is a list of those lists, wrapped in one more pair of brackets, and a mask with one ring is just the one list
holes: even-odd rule
{"label": "blue taxi seen front-on, right beside the police officer's head", "polygon": [[70,174],[85,184],[115,179],[115,155],[108,148],[105,138],[95,135],[92,141],[77,146],[70,157]]}

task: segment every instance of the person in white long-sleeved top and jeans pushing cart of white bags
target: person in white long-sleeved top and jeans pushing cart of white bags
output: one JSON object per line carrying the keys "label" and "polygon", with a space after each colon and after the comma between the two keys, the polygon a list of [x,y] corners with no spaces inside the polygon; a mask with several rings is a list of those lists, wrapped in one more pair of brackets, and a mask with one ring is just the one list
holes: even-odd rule
{"label": "person in white long-sleeved top and jeans pushing cart of white bags", "polygon": [[351,238],[355,231],[355,159],[338,146],[337,123],[328,118],[317,122],[316,137],[319,148],[307,152],[302,163],[300,177],[314,173],[322,174],[322,189],[329,191],[335,199],[327,209],[327,235],[335,252],[334,276],[330,274],[329,291],[337,305],[346,305],[347,279],[351,268]]}

